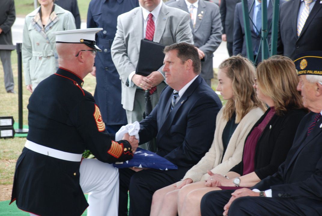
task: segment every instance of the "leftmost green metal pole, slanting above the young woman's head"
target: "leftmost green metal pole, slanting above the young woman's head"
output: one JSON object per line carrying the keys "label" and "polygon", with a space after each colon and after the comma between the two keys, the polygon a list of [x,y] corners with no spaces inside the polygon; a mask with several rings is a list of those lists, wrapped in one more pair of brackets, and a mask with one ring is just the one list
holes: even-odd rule
{"label": "leftmost green metal pole, slanting above the young woman's head", "polygon": [[244,20],[245,38],[246,38],[246,54],[247,58],[254,62],[254,54],[251,43],[251,28],[249,25],[249,12],[247,0],[242,0],[242,16]]}

